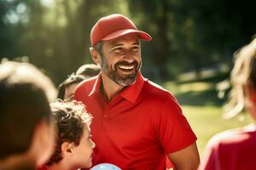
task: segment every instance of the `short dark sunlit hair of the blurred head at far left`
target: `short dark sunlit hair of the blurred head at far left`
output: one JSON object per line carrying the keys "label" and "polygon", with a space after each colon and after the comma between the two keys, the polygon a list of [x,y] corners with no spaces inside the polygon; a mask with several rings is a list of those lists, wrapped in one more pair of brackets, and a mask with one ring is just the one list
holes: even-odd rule
{"label": "short dark sunlit hair of the blurred head at far left", "polygon": [[55,87],[35,66],[0,65],[0,158],[25,152],[38,122],[49,122],[48,92],[55,94]]}

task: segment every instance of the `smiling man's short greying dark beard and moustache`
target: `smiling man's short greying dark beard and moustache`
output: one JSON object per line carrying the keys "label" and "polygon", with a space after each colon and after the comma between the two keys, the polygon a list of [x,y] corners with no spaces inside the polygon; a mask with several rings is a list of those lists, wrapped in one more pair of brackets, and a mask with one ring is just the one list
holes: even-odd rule
{"label": "smiling man's short greying dark beard and moustache", "polygon": [[[120,75],[118,73],[118,65],[134,65],[135,66],[135,71],[131,74],[125,74],[125,75]],[[117,62],[113,68],[111,65],[108,65],[108,61],[105,59],[104,56],[102,56],[102,71],[111,79],[113,82],[116,82],[120,86],[129,86],[133,82],[136,81],[137,79],[137,74],[138,71],[140,71],[142,67],[142,62],[138,63],[136,60],[129,63],[127,61],[120,61]]]}

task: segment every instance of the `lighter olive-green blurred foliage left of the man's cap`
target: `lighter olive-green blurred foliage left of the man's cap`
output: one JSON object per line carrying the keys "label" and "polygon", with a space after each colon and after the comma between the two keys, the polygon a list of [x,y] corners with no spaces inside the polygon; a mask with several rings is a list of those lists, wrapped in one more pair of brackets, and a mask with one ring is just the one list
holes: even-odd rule
{"label": "lighter olive-green blurred foliage left of the man's cap", "polygon": [[[4,38],[0,34],[1,42],[5,44],[11,41],[17,43],[17,47],[4,47],[7,52],[1,50],[0,56],[6,57],[8,54],[10,59],[27,56],[32,64],[43,68],[56,83],[62,82],[80,65],[92,62],[89,54],[90,29],[102,15],[121,13],[121,8],[125,10],[124,4],[115,2],[119,1],[3,1],[0,4],[12,4],[14,8],[6,7],[1,21],[9,17],[10,10],[18,20],[9,23],[9,27],[17,32],[15,37]],[[17,9],[19,5],[26,8],[22,14]],[[25,16],[26,21],[23,20]],[[3,26],[0,29],[3,29],[3,36],[11,30]],[[13,50],[17,53],[12,53]]]}

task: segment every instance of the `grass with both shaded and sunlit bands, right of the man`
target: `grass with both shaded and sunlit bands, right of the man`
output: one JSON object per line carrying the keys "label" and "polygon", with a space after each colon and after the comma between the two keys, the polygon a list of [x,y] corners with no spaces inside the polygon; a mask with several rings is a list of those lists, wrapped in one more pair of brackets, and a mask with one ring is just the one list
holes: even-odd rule
{"label": "grass with both shaded and sunlit bands, right of the man", "polygon": [[216,83],[221,80],[223,77],[164,84],[182,105],[183,113],[198,138],[197,145],[201,156],[207,141],[214,134],[233,127],[243,127],[251,122],[247,115],[223,119],[224,99],[218,99],[215,89]]}

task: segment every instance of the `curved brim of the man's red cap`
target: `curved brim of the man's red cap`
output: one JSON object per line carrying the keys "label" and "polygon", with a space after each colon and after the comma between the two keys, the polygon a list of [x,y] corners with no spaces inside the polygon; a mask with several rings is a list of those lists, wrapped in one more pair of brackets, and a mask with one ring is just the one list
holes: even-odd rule
{"label": "curved brim of the man's red cap", "polygon": [[102,41],[113,40],[117,37],[122,37],[122,36],[125,36],[126,34],[131,34],[131,33],[137,33],[137,35],[139,36],[139,39],[144,41],[150,41],[152,39],[152,37],[144,31],[125,29],[125,30],[114,31],[113,33],[109,34],[107,37],[103,37]]}

